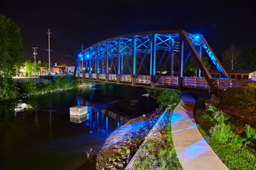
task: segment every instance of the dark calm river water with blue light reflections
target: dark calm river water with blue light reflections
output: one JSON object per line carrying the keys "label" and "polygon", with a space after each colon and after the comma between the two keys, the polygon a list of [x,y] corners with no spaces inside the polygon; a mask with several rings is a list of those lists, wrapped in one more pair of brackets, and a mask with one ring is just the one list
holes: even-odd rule
{"label": "dark calm river water with blue light reflections", "polygon": [[[0,169],[95,169],[95,156],[104,140],[127,120],[154,110],[142,97],[144,89],[97,85],[0,103]],[[26,109],[15,113],[17,104]],[[89,107],[83,117],[70,117],[69,108]]]}

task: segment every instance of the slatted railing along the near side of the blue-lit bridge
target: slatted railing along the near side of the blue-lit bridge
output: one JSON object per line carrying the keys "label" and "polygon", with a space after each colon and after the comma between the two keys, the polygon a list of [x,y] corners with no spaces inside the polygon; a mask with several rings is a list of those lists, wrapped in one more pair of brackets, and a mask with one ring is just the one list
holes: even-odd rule
{"label": "slatted railing along the near side of the blue-lit bridge", "polygon": [[[76,74],[77,76],[77,74]],[[149,75],[138,75],[136,81],[132,83],[132,75],[122,74],[119,75],[120,80],[118,80],[118,74],[96,74],[96,73],[85,73],[79,74],[79,78],[84,78],[88,80],[95,81],[106,81],[110,83],[119,83],[119,84],[127,84],[134,86],[142,86],[142,87],[152,87],[151,84],[151,76]],[[236,80],[231,78],[212,78],[214,85],[219,90],[226,90],[230,87],[246,87],[248,83],[252,83],[255,81],[250,80]],[[182,89],[178,89],[179,85],[179,77],[178,76],[160,76],[157,83],[154,87],[158,89],[173,89],[180,90],[184,92],[203,92],[209,93],[210,87],[205,80],[205,78],[196,78],[196,77],[182,77]]]}

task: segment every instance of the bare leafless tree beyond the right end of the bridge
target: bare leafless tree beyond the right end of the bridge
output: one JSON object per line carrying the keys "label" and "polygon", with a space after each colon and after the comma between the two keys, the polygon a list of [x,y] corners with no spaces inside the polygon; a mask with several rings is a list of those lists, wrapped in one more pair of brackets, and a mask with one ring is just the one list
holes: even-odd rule
{"label": "bare leafless tree beyond the right end of the bridge", "polygon": [[224,53],[221,55],[223,65],[228,69],[235,69],[241,66],[242,54],[241,50],[236,48],[236,46],[231,45]]}

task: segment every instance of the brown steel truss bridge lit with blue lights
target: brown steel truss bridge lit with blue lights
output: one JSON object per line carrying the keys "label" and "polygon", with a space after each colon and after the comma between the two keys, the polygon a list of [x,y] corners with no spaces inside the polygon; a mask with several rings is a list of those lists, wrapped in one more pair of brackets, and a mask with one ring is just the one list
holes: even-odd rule
{"label": "brown steel truss bridge lit with blue lights", "polygon": [[[204,52],[222,78],[212,78]],[[189,57],[196,63],[196,76],[184,76]],[[76,76],[134,86],[179,91],[217,92],[248,81],[230,79],[202,34],[183,30],[136,32],[109,38],[77,55]]]}

